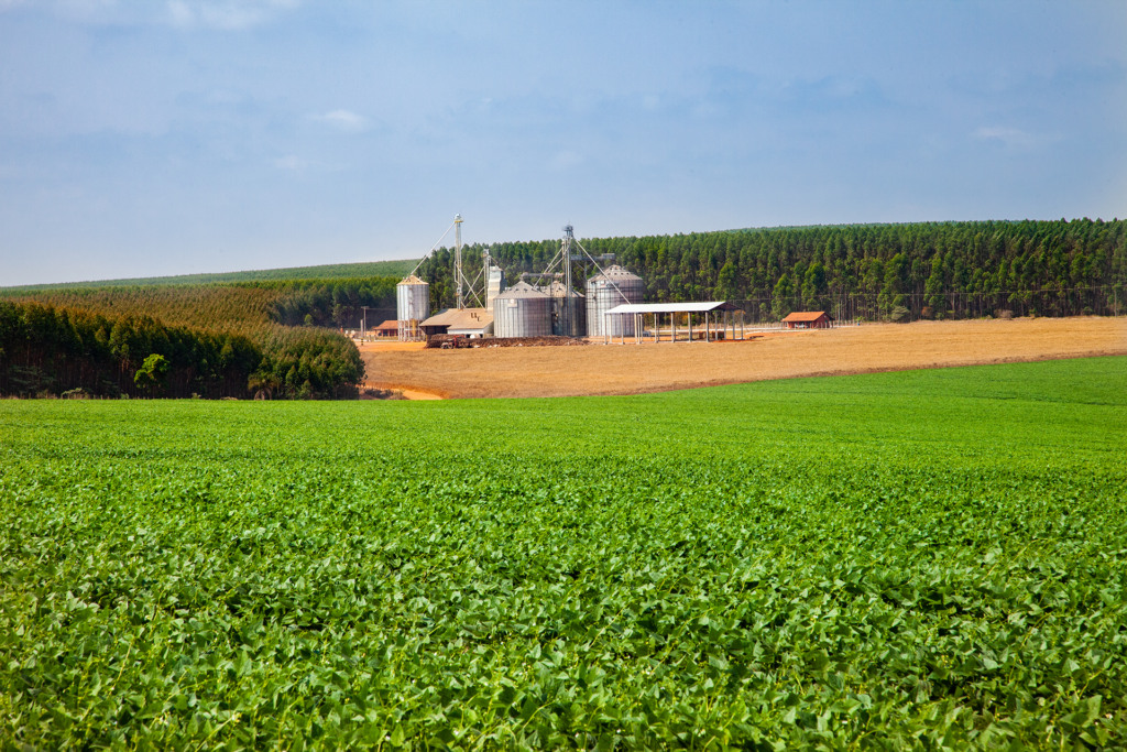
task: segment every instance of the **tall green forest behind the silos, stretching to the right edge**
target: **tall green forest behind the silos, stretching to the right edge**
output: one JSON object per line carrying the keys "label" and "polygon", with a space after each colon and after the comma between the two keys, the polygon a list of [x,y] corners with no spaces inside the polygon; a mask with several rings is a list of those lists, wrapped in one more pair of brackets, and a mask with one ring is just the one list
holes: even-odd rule
{"label": "tall green forest behind the silos, stretching to the right edge", "polygon": [[[731,300],[753,320],[793,310],[868,320],[1117,315],[1127,297],[1121,220],[848,224],[580,242],[594,256],[615,254],[641,276],[647,301]],[[558,249],[559,240],[489,247],[509,278],[542,271]],[[481,250],[463,250],[471,278]],[[442,248],[420,268],[435,309],[453,300],[452,256]],[[583,267],[576,274],[594,272]]]}

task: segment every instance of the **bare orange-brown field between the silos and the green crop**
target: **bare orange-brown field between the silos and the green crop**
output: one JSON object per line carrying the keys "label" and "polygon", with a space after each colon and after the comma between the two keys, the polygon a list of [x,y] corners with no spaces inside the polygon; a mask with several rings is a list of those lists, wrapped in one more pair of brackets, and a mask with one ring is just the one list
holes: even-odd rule
{"label": "bare orange-brown field between the silos and the green crop", "polygon": [[767,379],[1127,355],[1127,319],[870,324],[747,342],[421,350],[364,344],[369,384],[408,398],[635,395]]}

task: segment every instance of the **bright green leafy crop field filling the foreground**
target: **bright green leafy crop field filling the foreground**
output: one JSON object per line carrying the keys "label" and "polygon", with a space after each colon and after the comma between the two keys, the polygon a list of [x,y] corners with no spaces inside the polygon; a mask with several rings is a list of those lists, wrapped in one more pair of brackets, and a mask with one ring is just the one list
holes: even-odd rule
{"label": "bright green leafy crop field filling the foreground", "polygon": [[1127,359],[0,401],[0,749],[1127,746]]}

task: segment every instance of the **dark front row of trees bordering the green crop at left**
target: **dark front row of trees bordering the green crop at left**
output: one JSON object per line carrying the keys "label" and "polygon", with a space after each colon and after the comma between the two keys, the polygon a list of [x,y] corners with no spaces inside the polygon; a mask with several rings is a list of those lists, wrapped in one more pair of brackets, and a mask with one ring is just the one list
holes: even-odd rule
{"label": "dark front row of trees bordering the green crop at left", "polygon": [[322,328],[240,334],[0,300],[0,395],[325,399],[355,397],[363,378],[352,340]]}

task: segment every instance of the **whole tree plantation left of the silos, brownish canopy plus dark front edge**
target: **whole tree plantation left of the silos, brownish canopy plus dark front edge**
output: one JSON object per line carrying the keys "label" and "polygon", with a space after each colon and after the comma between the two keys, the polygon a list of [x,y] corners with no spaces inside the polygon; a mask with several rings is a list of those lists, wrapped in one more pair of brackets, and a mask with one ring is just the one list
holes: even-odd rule
{"label": "whole tree plantation left of the silos, brownish canopy plus dark front edge", "polygon": [[[364,366],[337,329],[358,327],[364,307],[393,310],[394,285],[363,277],[8,289],[0,395],[352,397]],[[159,372],[147,371],[152,363]]]}

